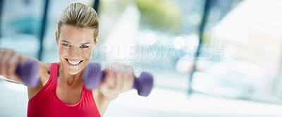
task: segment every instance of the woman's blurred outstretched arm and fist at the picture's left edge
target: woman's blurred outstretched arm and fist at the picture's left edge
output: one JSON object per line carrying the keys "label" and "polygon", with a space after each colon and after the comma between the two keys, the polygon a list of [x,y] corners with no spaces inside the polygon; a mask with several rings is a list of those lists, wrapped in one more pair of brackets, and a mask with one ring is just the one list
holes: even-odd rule
{"label": "woman's blurred outstretched arm and fist at the picture's left edge", "polygon": [[[36,58],[30,58],[28,56],[23,56],[12,49],[0,49],[0,79],[4,79],[8,82],[14,82],[17,84],[23,84],[20,76],[16,74],[16,68],[20,65],[25,63],[27,59],[32,59],[38,61]],[[50,63],[44,63],[38,61],[39,63],[39,83],[36,87],[29,87],[27,86],[28,97],[31,99],[32,97],[41,90],[41,88],[46,84],[48,81],[48,71],[51,66]]]}

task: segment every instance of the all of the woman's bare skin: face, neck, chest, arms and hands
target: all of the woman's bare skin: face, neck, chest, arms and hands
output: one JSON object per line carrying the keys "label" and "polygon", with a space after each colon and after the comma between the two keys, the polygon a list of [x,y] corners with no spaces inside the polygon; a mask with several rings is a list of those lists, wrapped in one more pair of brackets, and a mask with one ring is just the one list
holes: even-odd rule
{"label": "all of the woman's bare skin: face, neck, chest, arms and hands", "polygon": [[[63,25],[60,35],[57,35],[56,32],[56,44],[60,58],[56,94],[66,104],[76,104],[81,99],[83,70],[90,62],[92,51],[99,42],[99,35],[96,37],[97,41],[94,42],[93,32],[94,30],[87,27],[77,28],[70,25]],[[13,50],[1,49],[0,75],[4,75],[10,82],[22,83],[15,71],[16,67],[27,59],[35,58],[22,56]],[[68,61],[80,61],[80,63],[73,66]],[[29,99],[42,89],[50,76],[51,63],[38,62],[40,82],[37,87],[27,87]],[[112,66],[119,69],[116,70]],[[131,90],[134,82],[133,68],[128,65],[111,63],[106,65],[104,71],[106,75],[102,84],[98,89],[92,90],[101,116],[104,115],[109,103],[118,97],[118,94]]]}

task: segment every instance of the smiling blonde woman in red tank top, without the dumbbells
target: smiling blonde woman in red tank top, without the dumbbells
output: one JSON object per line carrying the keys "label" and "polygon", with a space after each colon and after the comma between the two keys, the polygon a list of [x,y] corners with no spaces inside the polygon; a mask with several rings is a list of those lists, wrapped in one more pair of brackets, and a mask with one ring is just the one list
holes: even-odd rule
{"label": "smiling blonde woman in red tank top, without the dumbbells", "polygon": [[[98,90],[88,90],[83,70],[99,42],[97,13],[90,6],[76,3],[63,10],[58,20],[56,44],[59,63],[39,61],[40,82],[28,87],[27,116],[103,116],[110,101],[133,86],[130,66],[110,64]],[[16,68],[28,58],[13,50],[0,50],[0,75],[20,83]],[[122,67],[123,70],[113,70]],[[125,68],[125,69],[124,69]],[[127,68],[127,69],[126,69]]]}

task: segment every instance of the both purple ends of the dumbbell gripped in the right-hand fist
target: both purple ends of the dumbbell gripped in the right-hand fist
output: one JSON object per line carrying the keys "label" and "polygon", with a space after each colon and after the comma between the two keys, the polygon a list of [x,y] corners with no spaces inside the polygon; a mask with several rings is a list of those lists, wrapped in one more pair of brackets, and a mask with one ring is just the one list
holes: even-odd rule
{"label": "both purple ends of the dumbbell gripped in the right-hand fist", "polygon": [[[104,79],[104,71],[100,69],[99,63],[89,63],[84,71],[85,85],[89,89],[97,89]],[[137,90],[138,94],[147,97],[153,87],[153,75],[151,73],[143,72],[140,78],[134,77],[133,88]]]}

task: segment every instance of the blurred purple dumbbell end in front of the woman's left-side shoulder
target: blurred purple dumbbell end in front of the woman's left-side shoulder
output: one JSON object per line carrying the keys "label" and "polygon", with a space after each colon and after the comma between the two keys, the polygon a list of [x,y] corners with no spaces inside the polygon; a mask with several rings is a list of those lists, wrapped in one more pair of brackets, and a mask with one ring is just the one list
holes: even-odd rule
{"label": "blurred purple dumbbell end in front of the woman's left-side shoulder", "polygon": [[16,73],[20,75],[23,84],[36,87],[39,82],[39,63],[35,60],[27,60],[23,65],[18,66]]}

